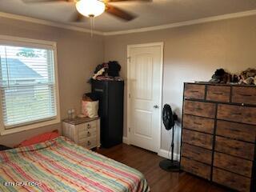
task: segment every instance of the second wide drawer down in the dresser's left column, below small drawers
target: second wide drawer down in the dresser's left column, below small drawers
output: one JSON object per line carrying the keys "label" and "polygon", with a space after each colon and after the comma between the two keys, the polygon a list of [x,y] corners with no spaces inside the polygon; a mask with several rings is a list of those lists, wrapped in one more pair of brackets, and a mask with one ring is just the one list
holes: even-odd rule
{"label": "second wide drawer down in the dresser's left column, below small drawers", "polygon": [[189,130],[198,130],[207,134],[214,134],[214,119],[184,114],[183,127]]}

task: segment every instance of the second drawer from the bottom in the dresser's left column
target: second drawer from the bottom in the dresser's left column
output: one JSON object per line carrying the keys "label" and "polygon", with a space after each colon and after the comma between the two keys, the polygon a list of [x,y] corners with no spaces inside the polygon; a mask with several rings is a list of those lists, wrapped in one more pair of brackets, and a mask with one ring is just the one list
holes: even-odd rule
{"label": "second drawer from the bottom in the dresser's left column", "polygon": [[182,157],[191,158],[199,162],[205,162],[211,164],[212,151],[205,150],[198,146],[191,146],[186,143],[182,143]]}

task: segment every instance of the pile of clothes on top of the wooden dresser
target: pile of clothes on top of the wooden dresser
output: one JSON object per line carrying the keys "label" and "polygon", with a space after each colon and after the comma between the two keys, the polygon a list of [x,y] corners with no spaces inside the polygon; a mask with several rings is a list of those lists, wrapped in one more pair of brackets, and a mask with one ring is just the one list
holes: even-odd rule
{"label": "pile of clothes on top of the wooden dresser", "polygon": [[256,85],[256,70],[249,68],[242,71],[241,74],[232,75],[223,69],[218,69],[213,74],[210,82]]}

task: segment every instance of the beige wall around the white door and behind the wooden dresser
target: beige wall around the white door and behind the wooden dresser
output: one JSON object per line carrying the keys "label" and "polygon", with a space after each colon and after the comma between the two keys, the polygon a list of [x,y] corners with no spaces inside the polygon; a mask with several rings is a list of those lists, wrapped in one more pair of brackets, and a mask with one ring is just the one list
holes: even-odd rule
{"label": "beige wall around the white door and behind the wooden dresser", "polygon": [[[120,62],[122,77],[126,78],[127,45],[164,42],[163,104],[173,106],[181,118],[183,82],[208,81],[220,67],[231,73],[256,67],[255,23],[256,16],[250,16],[168,30],[107,36],[105,61]],[[126,110],[124,124],[126,135]],[[179,131],[176,140],[178,138]],[[162,149],[168,150],[169,146],[170,132],[162,128]]]}

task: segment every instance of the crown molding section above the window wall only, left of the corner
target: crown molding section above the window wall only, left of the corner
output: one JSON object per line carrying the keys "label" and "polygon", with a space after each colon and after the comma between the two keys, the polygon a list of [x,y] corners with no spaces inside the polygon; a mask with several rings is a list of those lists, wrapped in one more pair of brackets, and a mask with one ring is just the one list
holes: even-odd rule
{"label": "crown molding section above the window wall only, left of the corner", "polygon": [[[54,27],[63,28],[66,30],[76,30],[84,33],[90,33],[90,30],[87,30],[82,27],[71,26],[71,25],[60,23],[60,22],[50,22],[50,21],[46,21],[38,18],[30,18],[30,17],[18,15],[18,14],[8,14],[5,12],[0,12],[0,18],[12,18],[15,20],[23,21],[23,22],[34,22],[37,24],[45,25],[45,26],[54,26]],[[103,33],[98,30],[94,30],[94,34],[103,35]]]}

